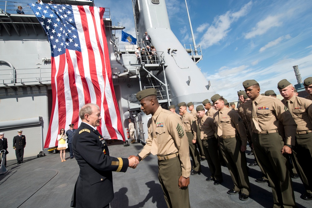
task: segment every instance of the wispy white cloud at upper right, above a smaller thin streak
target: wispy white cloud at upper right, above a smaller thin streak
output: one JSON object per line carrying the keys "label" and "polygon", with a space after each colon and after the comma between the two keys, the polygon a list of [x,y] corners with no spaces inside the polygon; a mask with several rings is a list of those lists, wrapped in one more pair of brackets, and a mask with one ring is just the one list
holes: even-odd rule
{"label": "wispy white cloud at upper right, above a smaller thin streak", "polygon": [[268,31],[270,28],[280,26],[282,24],[282,22],[280,21],[281,17],[281,15],[269,15],[264,20],[259,21],[256,24],[256,27],[252,28],[250,32],[246,33],[245,38],[250,39],[257,35],[262,35],[266,33],[266,31]]}

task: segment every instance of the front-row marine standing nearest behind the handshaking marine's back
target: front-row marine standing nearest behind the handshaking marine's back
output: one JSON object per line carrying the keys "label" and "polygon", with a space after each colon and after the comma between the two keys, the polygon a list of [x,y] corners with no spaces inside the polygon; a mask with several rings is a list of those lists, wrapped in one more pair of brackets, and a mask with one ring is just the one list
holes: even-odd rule
{"label": "front-row marine standing nearest behind the handshaking marine's back", "polygon": [[188,145],[190,148],[190,154],[193,160],[193,167],[191,171],[191,175],[196,175],[198,172],[202,171],[202,167],[200,165],[200,157],[196,147],[196,135],[197,135],[197,125],[194,117],[188,113],[186,110],[186,103],[182,102],[178,104],[179,112],[182,115],[182,123],[185,129],[186,136],[188,137]]}

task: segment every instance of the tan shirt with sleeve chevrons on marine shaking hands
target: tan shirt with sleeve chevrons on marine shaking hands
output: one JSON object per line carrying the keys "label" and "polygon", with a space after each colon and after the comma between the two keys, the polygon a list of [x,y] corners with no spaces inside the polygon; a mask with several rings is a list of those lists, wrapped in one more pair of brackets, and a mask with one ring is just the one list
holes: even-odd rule
{"label": "tan shirt with sleeve chevrons on marine shaking hands", "polygon": [[157,144],[158,156],[179,153],[182,176],[188,178],[191,172],[188,138],[179,116],[159,106],[152,118],[149,119],[147,127],[148,138],[144,148],[139,153],[142,160],[150,154],[154,140]]}

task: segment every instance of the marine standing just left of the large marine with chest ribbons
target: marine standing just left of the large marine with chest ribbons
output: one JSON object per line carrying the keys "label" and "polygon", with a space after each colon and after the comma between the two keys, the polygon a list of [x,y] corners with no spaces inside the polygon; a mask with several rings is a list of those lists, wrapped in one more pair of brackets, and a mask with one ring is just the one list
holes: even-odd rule
{"label": "marine standing just left of the large marine with chest ribbons", "polygon": [[228,194],[239,193],[240,200],[247,200],[250,184],[246,165],[247,134],[241,117],[224,106],[224,99],[215,94],[211,97],[217,112],[213,119],[216,126],[220,149],[230,171],[234,188]]}

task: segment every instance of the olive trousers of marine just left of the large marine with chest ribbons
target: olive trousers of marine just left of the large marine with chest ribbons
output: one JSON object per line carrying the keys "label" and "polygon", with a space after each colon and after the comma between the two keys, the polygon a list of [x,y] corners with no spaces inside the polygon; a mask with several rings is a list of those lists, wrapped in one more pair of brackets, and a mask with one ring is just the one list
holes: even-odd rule
{"label": "olive trousers of marine just left of the large marine with chest ribbons", "polygon": [[241,193],[249,196],[250,184],[247,161],[245,152],[241,152],[241,139],[239,137],[228,139],[219,137],[219,143],[224,161],[234,183],[234,191],[241,191]]}

